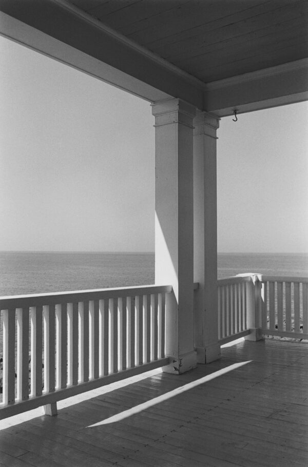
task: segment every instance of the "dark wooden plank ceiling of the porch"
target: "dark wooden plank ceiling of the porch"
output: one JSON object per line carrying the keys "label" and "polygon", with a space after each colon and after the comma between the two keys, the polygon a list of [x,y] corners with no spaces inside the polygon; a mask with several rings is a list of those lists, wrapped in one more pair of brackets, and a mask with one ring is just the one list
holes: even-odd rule
{"label": "dark wooden plank ceiling of the porch", "polygon": [[204,83],[308,56],[307,0],[69,0]]}

